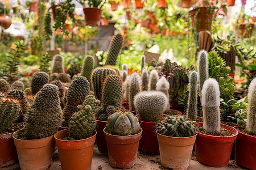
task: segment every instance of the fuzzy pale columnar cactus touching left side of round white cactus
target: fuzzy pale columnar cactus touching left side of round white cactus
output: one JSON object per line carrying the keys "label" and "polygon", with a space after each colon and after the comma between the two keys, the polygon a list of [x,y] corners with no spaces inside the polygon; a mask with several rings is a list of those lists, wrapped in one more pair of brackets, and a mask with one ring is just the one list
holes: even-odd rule
{"label": "fuzzy pale columnar cactus touching left side of round white cactus", "polygon": [[134,108],[134,97],[141,92],[141,77],[138,73],[133,73],[130,77],[129,83],[129,109],[135,111]]}

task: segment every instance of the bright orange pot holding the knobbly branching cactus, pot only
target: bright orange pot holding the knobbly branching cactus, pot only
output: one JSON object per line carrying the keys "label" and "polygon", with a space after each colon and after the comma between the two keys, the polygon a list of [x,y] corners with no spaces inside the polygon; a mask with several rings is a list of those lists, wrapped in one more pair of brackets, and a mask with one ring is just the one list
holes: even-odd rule
{"label": "bright orange pot holding the knobbly branching cactus, pot only", "polygon": [[90,169],[92,166],[93,146],[96,139],[96,131],[90,138],[78,141],[63,141],[68,136],[69,129],[61,130],[54,135],[56,146],[59,150],[61,168]]}

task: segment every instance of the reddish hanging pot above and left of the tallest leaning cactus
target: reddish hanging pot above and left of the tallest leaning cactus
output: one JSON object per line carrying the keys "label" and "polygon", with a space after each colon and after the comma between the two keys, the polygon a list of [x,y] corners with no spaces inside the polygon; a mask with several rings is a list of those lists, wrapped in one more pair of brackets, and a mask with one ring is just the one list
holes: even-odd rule
{"label": "reddish hanging pot above and left of the tallest leaning cactus", "polygon": [[96,7],[83,8],[85,15],[85,25],[100,26],[101,9]]}

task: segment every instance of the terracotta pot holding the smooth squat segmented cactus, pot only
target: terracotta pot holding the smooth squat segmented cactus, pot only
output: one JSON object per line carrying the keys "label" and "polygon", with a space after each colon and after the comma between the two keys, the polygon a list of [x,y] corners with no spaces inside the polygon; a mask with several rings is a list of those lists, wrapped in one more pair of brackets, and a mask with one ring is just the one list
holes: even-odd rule
{"label": "terracotta pot holding the smooth squat segmented cactus, pot only", "polygon": [[[105,128],[106,129],[106,128]],[[114,168],[131,168],[136,162],[141,132],[135,135],[118,136],[105,132],[108,145],[109,163]]]}

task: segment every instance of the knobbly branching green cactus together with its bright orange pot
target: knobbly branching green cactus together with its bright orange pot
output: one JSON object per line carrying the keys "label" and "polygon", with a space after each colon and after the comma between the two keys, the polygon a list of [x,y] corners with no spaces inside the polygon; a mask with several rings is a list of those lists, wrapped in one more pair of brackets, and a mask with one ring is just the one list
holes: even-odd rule
{"label": "knobbly branching green cactus together with its bright orange pot", "polygon": [[62,169],[90,169],[96,139],[95,110],[100,100],[93,95],[85,97],[69,122],[69,129],[54,135]]}

